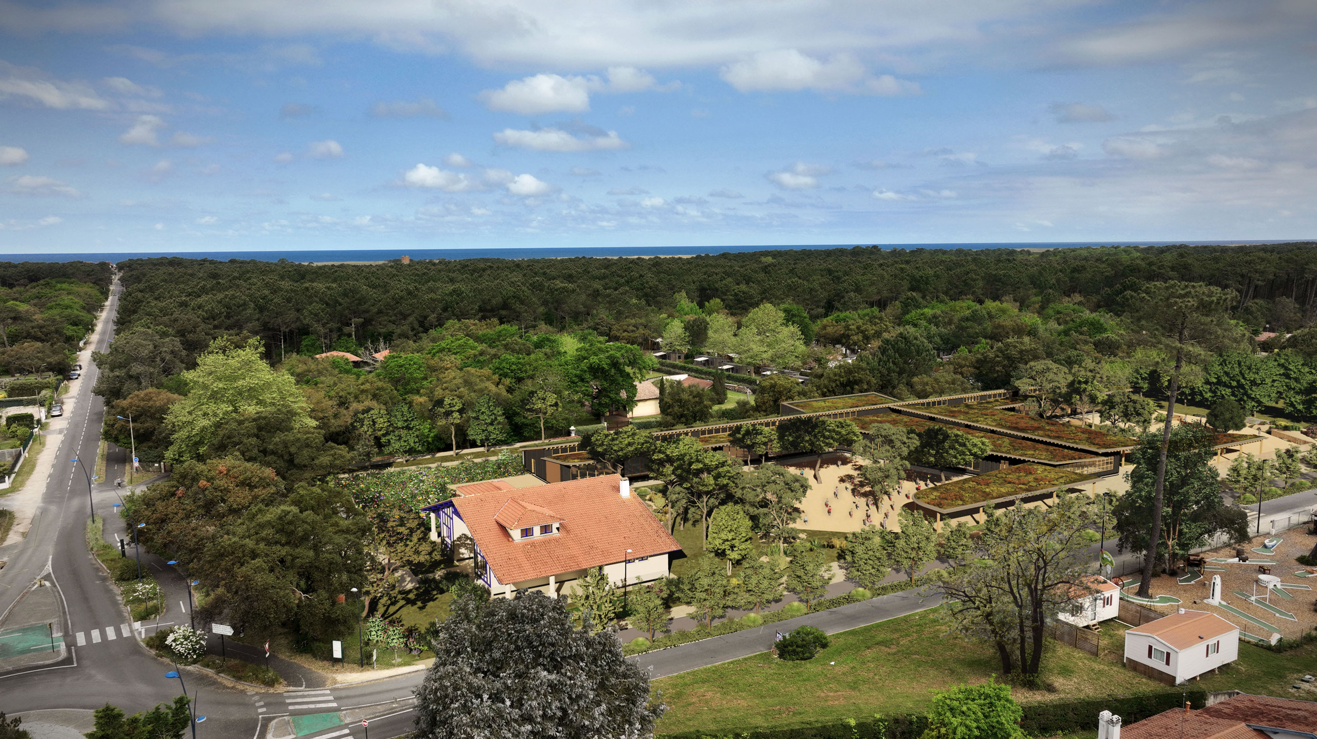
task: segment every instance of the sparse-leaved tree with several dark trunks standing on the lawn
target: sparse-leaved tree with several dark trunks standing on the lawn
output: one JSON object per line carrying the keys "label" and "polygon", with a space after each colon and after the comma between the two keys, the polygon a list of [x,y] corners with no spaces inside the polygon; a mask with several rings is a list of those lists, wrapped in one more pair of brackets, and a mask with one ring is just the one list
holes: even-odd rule
{"label": "sparse-leaved tree with several dark trunks standing on the lawn", "polygon": [[971,564],[938,571],[944,614],[956,632],[997,650],[1002,675],[1036,684],[1047,626],[1092,563],[1085,534],[1097,518],[1087,496],[1065,493],[1051,509],[1017,501],[986,513]]}

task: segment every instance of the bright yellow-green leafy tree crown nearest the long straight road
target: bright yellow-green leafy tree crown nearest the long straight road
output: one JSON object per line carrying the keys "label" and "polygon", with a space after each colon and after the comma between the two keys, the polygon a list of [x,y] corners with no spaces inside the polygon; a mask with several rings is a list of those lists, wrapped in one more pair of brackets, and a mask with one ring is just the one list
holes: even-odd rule
{"label": "bright yellow-green leafy tree crown nearest the long straight road", "polygon": [[270,370],[261,359],[258,339],[241,347],[216,342],[183,379],[187,397],[165,416],[165,427],[174,434],[165,454],[169,462],[199,458],[219,427],[240,416],[270,412],[286,417],[292,427],[315,425],[292,376]]}

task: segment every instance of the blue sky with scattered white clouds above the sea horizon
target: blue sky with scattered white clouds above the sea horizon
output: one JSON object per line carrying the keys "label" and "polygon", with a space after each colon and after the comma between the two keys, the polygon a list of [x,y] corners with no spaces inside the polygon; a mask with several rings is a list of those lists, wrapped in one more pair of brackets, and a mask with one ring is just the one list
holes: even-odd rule
{"label": "blue sky with scattered white clouds above the sea horizon", "polygon": [[0,252],[1312,238],[1314,30],[1300,0],[0,0]]}

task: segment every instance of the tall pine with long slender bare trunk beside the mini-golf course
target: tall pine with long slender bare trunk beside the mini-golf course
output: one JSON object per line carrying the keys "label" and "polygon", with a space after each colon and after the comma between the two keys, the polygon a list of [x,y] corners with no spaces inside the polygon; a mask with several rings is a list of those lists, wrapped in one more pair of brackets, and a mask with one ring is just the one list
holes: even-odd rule
{"label": "tall pine with long slender bare trunk beside the mini-golf course", "polygon": [[[1127,293],[1133,309],[1129,313],[1135,329],[1162,358],[1159,372],[1169,376],[1167,385],[1166,422],[1162,426],[1162,446],[1158,455],[1152,493],[1152,515],[1148,519],[1151,542],[1143,560],[1138,596],[1151,597],[1152,569],[1156,561],[1156,536],[1162,530],[1162,505],[1166,490],[1167,454],[1171,447],[1171,426],[1175,419],[1175,400],[1180,391],[1185,366],[1202,366],[1214,346],[1227,345],[1237,330],[1227,323],[1226,310],[1235,293],[1201,283],[1150,283],[1138,293]],[[1167,368],[1166,366],[1169,364]]]}

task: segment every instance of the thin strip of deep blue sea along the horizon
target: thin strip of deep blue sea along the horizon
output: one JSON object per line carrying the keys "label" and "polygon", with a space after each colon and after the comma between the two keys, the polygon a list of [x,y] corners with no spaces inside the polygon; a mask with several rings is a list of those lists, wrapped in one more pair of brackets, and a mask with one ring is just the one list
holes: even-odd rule
{"label": "thin strip of deep blue sea along the horizon", "polygon": [[1075,249],[1085,246],[1195,246],[1222,243],[1285,243],[1287,241],[1137,241],[1137,242],[1015,242],[1015,243],[802,243],[802,245],[741,245],[741,246],[601,246],[601,247],[508,247],[508,249],[344,249],[319,251],[104,251],[84,254],[11,254],[4,262],[120,262],[122,259],[149,259],[153,256],[183,256],[188,259],[258,259],[262,262],[386,262],[402,255],[412,259],[545,259],[561,256],[681,256],[690,254],[726,254],[736,251],[773,251],[784,249],[851,249],[852,246],[881,246],[882,249]]}

